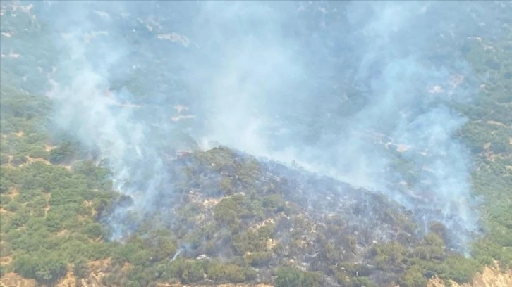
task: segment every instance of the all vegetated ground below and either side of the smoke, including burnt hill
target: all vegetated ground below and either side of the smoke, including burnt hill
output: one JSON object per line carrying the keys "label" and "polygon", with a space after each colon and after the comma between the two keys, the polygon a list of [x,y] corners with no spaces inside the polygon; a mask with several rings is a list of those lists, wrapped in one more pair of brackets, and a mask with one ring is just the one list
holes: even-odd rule
{"label": "all vegetated ground below and either side of the smoke, including burnt hill", "polygon": [[[469,119],[459,136],[471,147],[473,192],[482,198],[484,236],[473,243],[471,257],[446,248],[440,223],[416,236],[408,212],[383,196],[226,147],[166,162],[179,178],[173,196],[181,200],[169,206],[173,222],[166,213],[150,222],[134,218],[141,227],[135,234],[109,241],[104,217],[124,200],[112,190],[109,170],[71,136],[52,132],[51,101],[40,93],[47,83],[37,75],[19,80],[44,63],[2,60],[0,276],[16,272],[50,285],[73,272],[79,279],[105,274],[106,286],[258,281],[278,287],[418,287],[432,276],[468,282],[494,260],[511,268],[512,43],[482,41],[493,49],[468,39],[464,52],[475,71],[492,81],[482,87],[479,103],[454,107]],[[45,57],[44,51],[34,53]],[[340,211],[329,205],[335,200],[311,200],[307,195],[315,186],[333,189],[315,193],[319,197],[343,189],[359,201]],[[375,225],[360,223],[368,214],[379,218]],[[377,231],[394,237],[373,242]]]}

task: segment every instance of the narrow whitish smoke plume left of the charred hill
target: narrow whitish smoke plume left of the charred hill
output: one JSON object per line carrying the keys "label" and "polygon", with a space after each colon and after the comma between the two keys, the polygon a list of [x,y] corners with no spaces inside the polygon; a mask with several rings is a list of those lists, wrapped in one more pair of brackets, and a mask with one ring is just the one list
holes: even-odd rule
{"label": "narrow whitish smoke plume left of the charred hill", "polygon": [[[87,20],[91,13],[87,5],[56,7],[64,14],[54,20],[59,25],[56,27],[75,25],[56,35],[62,60],[52,76],[57,80],[53,80],[49,97],[55,103],[57,127],[75,136],[86,148],[99,151],[99,162],[105,162],[113,174],[113,189],[133,198],[132,204],[119,206],[107,219],[113,238],[118,239],[132,231],[133,227],[126,224],[131,215],[152,215],[157,193],[164,186],[169,188],[171,182],[157,152],[157,141],[152,140],[152,127],[142,115],[150,110],[126,105],[126,99],[131,98],[126,90],[109,91],[110,74],[126,59],[128,43],[107,37],[111,20],[101,11],[94,12],[106,20],[99,24],[106,24],[103,28],[107,29],[95,30],[98,23]],[[95,37],[105,39],[94,42]]]}

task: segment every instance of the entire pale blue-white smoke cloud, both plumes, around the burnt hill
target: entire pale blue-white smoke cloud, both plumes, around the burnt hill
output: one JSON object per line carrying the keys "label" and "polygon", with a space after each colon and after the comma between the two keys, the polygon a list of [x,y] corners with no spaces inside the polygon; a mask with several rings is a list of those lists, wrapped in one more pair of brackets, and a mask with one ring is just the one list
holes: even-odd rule
{"label": "entire pale blue-white smoke cloud, both plumes, around the burnt hill", "polygon": [[491,8],[92,1],[44,4],[39,16],[62,52],[55,122],[99,150],[114,189],[134,199],[111,217],[114,238],[130,212],[155,211],[163,186],[173,196],[160,151],[179,129],[205,148],[384,192],[465,245],[478,216],[470,156],[453,136],[465,118],[451,106],[475,98],[459,46],[492,26]]}

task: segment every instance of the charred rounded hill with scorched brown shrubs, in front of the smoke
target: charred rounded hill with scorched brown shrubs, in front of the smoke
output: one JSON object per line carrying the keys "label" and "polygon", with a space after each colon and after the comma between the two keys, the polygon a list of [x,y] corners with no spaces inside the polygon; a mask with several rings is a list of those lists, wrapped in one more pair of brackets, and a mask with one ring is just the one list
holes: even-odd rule
{"label": "charred rounded hill with scorched brown shrubs, in front of the smoke", "polygon": [[[382,286],[398,280],[407,268],[406,256],[441,260],[447,254],[442,224],[423,237],[406,208],[329,177],[224,146],[181,151],[166,166],[172,187],[160,190],[154,213],[130,218],[135,234],[121,240],[158,245],[161,239],[154,234],[169,230],[176,252],[140,260],[185,264],[181,268],[197,264],[197,282],[231,281],[230,273],[202,279],[200,270],[208,272],[217,262],[245,268],[239,271],[241,281],[271,282],[276,270],[293,267],[284,270],[306,272],[315,285],[353,284],[353,277],[353,282]],[[180,274],[174,276],[186,283],[188,277]]]}

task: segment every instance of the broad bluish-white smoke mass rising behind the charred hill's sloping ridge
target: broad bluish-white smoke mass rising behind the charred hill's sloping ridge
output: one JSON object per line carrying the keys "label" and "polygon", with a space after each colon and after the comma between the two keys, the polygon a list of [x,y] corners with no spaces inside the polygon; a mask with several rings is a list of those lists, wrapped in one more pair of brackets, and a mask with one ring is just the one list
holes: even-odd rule
{"label": "broad bluish-white smoke mass rising behind the charred hill's sloping ridge", "polygon": [[[207,117],[207,138],[384,192],[416,210],[425,228],[438,220],[456,231],[455,243],[467,243],[478,217],[469,153],[453,137],[465,119],[449,106],[475,94],[455,38],[469,36],[457,25],[471,23],[446,10],[470,8],[426,2],[300,5],[274,6],[282,8],[277,18],[261,16],[266,4],[252,4],[250,15],[223,13],[237,27],[248,27],[238,25],[240,15],[244,23],[258,24],[235,37],[236,50],[222,46],[223,63],[204,91],[215,107]],[[286,14],[292,8],[295,15]],[[320,14],[308,15],[316,27],[300,27],[301,12]],[[445,23],[449,19],[453,23]],[[283,30],[284,23],[298,25],[304,35]],[[344,51],[335,55],[336,49]],[[391,168],[398,160],[415,168],[412,179],[412,171]]]}

